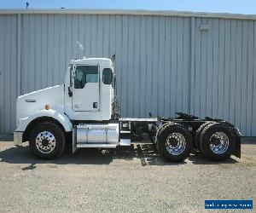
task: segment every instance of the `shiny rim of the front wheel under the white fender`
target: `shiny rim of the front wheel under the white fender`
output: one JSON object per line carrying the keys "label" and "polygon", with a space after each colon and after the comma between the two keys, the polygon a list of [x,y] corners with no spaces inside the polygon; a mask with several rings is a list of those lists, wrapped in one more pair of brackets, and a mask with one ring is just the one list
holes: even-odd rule
{"label": "shiny rim of the front wheel under the white fender", "polygon": [[36,147],[40,153],[53,152],[56,147],[55,136],[49,131],[40,132],[36,138]]}

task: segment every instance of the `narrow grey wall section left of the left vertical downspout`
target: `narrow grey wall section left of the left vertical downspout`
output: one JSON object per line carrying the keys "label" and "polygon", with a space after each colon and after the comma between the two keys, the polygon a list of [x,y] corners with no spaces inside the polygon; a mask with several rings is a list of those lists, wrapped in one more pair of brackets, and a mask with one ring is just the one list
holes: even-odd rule
{"label": "narrow grey wall section left of the left vertical downspout", "polygon": [[15,129],[17,15],[0,15],[0,133]]}

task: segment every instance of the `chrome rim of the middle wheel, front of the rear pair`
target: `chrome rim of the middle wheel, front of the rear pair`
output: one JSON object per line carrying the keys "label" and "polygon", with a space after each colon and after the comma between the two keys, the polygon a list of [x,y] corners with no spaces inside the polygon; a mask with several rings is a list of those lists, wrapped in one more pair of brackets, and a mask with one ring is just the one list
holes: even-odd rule
{"label": "chrome rim of the middle wheel, front of the rear pair", "polygon": [[172,155],[179,155],[184,152],[185,148],[186,139],[182,134],[173,132],[168,135],[166,139],[166,150],[168,153],[171,153]]}

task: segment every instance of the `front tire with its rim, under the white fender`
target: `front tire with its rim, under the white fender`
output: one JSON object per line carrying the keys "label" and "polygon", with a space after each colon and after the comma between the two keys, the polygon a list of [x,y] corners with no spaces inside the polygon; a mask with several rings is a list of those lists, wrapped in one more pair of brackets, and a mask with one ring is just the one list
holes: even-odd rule
{"label": "front tire with its rim, under the white fender", "polygon": [[49,122],[37,124],[30,134],[29,147],[38,158],[56,158],[65,147],[63,130],[57,124]]}

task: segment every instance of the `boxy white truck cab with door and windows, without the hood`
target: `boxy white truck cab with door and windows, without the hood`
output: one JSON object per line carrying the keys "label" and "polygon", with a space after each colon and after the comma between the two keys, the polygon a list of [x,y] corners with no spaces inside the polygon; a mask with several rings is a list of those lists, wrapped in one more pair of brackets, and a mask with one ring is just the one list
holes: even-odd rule
{"label": "boxy white truck cab with door and windows, without the hood", "polygon": [[109,59],[72,60],[65,78],[65,113],[72,120],[110,120],[113,63]]}

